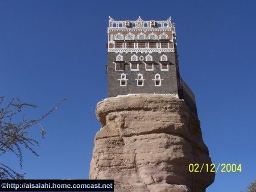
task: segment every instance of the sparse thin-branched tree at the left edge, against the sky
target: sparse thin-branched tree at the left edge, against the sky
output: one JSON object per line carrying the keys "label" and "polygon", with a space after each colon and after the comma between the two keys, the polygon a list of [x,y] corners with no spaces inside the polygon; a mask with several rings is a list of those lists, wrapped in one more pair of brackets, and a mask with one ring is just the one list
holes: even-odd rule
{"label": "sparse thin-branched tree at the left edge, against the sky", "polygon": [[[49,114],[57,109],[63,98],[55,107],[49,110],[45,115],[38,119],[26,119],[23,114],[24,108],[37,108],[38,106],[31,103],[21,102],[19,98],[11,99],[5,106],[5,97],[0,97],[0,156],[5,155],[7,152],[14,153],[19,158],[19,166],[22,169],[23,153],[22,149],[26,148],[35,156],[38,156],[34,147],[39,146],[38,141],[28,137],[28,128],[38,124],[41,130],[41,135],[44,138],[46,131],[40,124]],[[20,120],[17,119],[22,116]],[[14,120],[15,119],[15,120]],[[0,179],[23,179],[24,174],[17,173],[9,165],[0,162]]]}

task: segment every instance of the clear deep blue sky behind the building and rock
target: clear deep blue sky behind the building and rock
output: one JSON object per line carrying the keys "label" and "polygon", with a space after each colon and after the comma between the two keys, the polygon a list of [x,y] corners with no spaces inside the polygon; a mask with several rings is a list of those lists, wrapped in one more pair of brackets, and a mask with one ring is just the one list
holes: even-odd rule
{"label": "clear deep blue sky behind the building and rock", "polygon": [[0,93],[39,105],[38,117],[65,101],[30,135],[39,157],[24,151],[28,179],[88,178],[94,110],[106,98],[108,16],[176,23],[181,76],[196,95],[203,139],[215,164],[242,164],[217,173],[207,191],[240,191],[255,179],[255,1],[0,1]]}

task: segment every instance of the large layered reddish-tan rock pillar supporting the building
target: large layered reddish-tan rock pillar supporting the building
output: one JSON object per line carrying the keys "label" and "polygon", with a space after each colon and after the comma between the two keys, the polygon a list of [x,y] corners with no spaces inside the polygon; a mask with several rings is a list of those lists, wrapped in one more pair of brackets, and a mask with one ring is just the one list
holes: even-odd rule
{"label": "large layered reddish-tan rock pillar supporting the building", "polygon": [[90,179],[112,179],[115,191],[205,191],[214,173],[200,122],[184,101],[168,95],[106,98],[96,108],[102,128],[94,140]]}

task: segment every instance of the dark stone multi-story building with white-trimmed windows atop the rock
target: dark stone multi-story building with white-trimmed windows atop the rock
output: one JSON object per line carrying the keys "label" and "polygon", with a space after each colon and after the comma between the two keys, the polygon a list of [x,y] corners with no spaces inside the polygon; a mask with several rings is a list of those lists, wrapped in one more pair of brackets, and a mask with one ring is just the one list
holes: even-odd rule
{"label": "dark stone multi-story building with white-trimmed windows atop the rock", "polygon": [[108,27],[108,97],[167,94],[197,115],[195,95],[180,77],[175,24],[167,20],[114,20]]}

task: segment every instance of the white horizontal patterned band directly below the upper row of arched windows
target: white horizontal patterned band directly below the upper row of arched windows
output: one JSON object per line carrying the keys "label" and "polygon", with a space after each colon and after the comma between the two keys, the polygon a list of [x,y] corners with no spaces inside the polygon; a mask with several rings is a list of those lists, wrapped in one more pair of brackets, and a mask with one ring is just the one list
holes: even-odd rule
{"label": "white horizontal patterned band directly below the upper row of arched windows", "polygon": [[108,52],[174,52],[174,48],[109,48]]}

